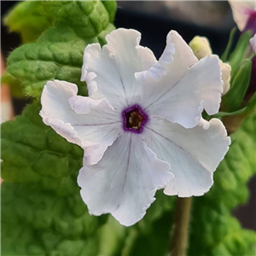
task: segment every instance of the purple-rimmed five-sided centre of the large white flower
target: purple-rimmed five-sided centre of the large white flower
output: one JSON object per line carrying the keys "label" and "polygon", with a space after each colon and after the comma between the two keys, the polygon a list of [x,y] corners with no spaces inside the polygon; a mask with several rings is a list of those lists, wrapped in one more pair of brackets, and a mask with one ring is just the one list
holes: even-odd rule
{"label": "purple-rimmed five-sided centre of the large white flower", "polygon": [[148,115],[139,105],[132,105],[122,112],[123,128],[125,131],[142,133],[143,126],[148,122]]}

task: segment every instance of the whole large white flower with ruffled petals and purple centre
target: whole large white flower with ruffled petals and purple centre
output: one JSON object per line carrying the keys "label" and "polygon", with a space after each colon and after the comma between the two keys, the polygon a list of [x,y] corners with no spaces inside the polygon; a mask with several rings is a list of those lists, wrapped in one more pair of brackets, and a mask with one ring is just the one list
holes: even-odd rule
{"label": "whole large white flower with ruffled petals and purple centre", "polygon": [[102,48],[84,50],[82,81],[49,81],[41,116],[68,142],[84,148],[81,195],[91,214],[110,212],[121,224],[143,218],[157,189],[166,195],[203,195],[230,137],[218,113],[223,82],[218,56],[197,60],[170,32],[157,61],[135,30],[111,32]]}

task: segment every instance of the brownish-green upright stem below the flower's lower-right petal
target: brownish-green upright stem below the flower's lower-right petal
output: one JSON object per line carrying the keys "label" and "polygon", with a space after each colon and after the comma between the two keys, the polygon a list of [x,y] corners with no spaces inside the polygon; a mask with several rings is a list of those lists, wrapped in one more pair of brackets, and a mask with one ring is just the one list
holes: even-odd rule
{"label": "brownish-green upright stem below the flower's lower-right petal", "polygon": [[172,233],[172,256],[185,256],[188,237],[192,197],[177,198],[177,209]]}

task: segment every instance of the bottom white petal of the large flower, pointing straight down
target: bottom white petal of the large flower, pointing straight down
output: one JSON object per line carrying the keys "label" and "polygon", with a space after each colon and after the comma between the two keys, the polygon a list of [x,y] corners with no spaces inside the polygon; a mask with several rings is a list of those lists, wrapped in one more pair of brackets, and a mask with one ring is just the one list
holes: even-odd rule
{"label": "bottom white petal of the large flower, pointing straight down", "polygon": [[143,218],[156,189],[172,179],[169,170],[136,134],[124,133],[95,166],[80,170],[78,183],[91,214],[110,212],[129,226]]}

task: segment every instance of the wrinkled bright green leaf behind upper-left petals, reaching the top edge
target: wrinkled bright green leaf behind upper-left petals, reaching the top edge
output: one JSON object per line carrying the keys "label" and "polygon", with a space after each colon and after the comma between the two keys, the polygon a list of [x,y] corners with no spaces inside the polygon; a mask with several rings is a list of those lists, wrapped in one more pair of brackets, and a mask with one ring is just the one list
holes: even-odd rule
{"label": "wrinkled bright green leaf behind upper-left petals, reaching the top edge", "polygon": [[55,26],[37,42],[9,55],[2,82],[17,88],[20,84],[27,96],[40,97],[48,80],[66,80],[78,84],[79,94],[86,95],[86,86],[80,82],[84,48],[105,43],[105,36],[114,28],[116,4],[112,0],[55,0],[42,4],[45,13],[55,18]]}

